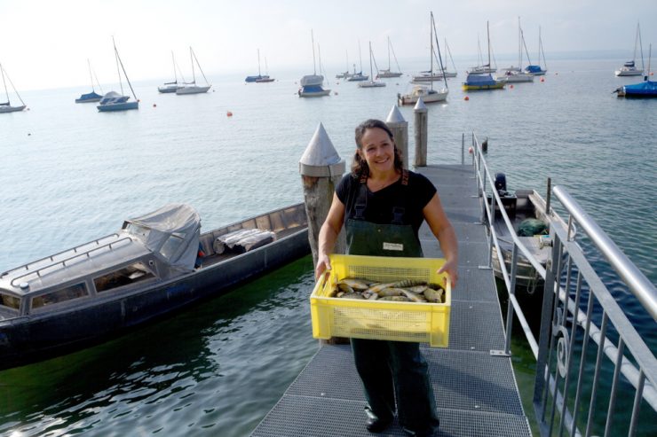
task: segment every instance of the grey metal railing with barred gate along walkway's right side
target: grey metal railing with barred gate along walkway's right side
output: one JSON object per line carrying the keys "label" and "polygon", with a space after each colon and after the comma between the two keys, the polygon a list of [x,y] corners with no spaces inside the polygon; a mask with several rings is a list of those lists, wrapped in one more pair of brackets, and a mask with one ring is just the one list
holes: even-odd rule
{"label": "grey metal railing with barred gate along walkway's right side", "polygon": [[[484,205],[482,221],[487,218],[493,223],[495,205],[502,205],[502,201],[475,134],[471,141],[472,164]],[[462,146],[464,149],[464,142]],[[489,193],[487,187],[490,187]],[[488,265],[480,268],[492,268],[491,248],[495,246],[509,297],[505,350],[491,351],[491,354],[511,355],[511,326],[515,316],[536,358],[533,403],[542,436],[561,436],[564,431],[572,436],[587,437],[602,432],[606,436],[625,432],[630,436],[637,432],[651,433],[657,417],[657,360],[591,267],[582,246],[575,241],[574,225],[605,256],[623,285],[637,296],[653,321],[657,318],[655,287],[564,188],[556,186],[551,193],[566,210],[568,224],[564,228],[564,222],[556,220],[555,211],[548,207],[546,213],[553,242],[551,259],[545,268],[522,245],[504,207],[500,207],[499,212],[513,238],[511,271],[507,271],[495,227],[489,226]],[[578,232],[577,238],[583,236]],[[516,299],[520,254],[544,280],[538,340]],[[598,345],[597,351],[590,340]],[[617,404],[627,399],[633,399],[629,417],[623,418],[622,423],[616,420],[614,424],[614,417],[625,414],[622,405]],[[641,415],[642,404],[647,404],[652,411],[645,410]]]}

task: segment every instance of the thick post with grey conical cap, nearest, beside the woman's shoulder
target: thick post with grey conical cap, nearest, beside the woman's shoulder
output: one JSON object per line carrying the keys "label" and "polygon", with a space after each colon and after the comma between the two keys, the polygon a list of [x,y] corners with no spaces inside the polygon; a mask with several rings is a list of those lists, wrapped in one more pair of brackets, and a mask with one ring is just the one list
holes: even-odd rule
{"label": "thick post with grey conical cap, nearest, beside the woman's shoulder", "polygon": [[[329,134],[320,123],[299,160],[299,173],[304,184],[305,215],[308,218],[308,241],[317,266],[318,238],[321,225],[329,215],[336,185],[344,174],[344,160],[337,154]],[[334,254],[344,254],[344,231],[340,232]]]}

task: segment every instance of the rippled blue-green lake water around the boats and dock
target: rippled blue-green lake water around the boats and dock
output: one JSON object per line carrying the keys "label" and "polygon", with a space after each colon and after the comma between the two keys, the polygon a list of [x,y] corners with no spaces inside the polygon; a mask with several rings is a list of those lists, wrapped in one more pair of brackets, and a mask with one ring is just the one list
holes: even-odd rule
{"label": "rippled blue-green lake water around the boats and dock", "polygon": [[[655,283],[657,101],[616,98],[618,86],[640,80],[614,77],[618,66],[556,60],[544,82],[470,92],[467,101],[466,65],[458,66],[447,103],[429,105],[428,161],[460,163],[463,133],[487,137],[488,164],[506,173],[510,190],[544,193],[551,177]],[[387,79],[382,89],[331,79],[330,97],[298,98],[298,79],[310,73],[272,72],[278,80],[263,84],[213,77],[210,93],[194,96],[138,82],[139,111],[126,113],[75,105],[84,87],[22,92],[30,110],[0,116],[0,270],[171,202],[194,206],[210,229],[301,201],[298,160],[318,124],[349,163],[355,126],[385,119],[397,93],[408,91],[408,77]],[[400,112],[412,162],[413,110]],[[654,321],[595,260],[655,350]],[[1,371],[0,433],[248,435],[317,348],[312,269],[306,257],[129,336]]]}

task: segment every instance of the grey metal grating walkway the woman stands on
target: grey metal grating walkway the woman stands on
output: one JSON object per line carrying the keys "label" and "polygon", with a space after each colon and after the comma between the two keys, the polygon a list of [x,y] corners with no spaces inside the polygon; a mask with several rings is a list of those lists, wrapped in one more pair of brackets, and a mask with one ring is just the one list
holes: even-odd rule
{"label": "grey metal grating walkway the woman stands on", "polygon": [[[423,347],[440,417],[439,436],[531,436],[511,358],[503,349],[503,318],[488,261],[486,227],[471,166],[419,171],[438,187],[459,240],[459,283],[452,292],[449,347]],[[426,223],[424,256],[440,257]],[[320,347],[251,434],[253,437],[405,436],[395,422],[385,433],[365,429],[365,398],[348,345]]]}

